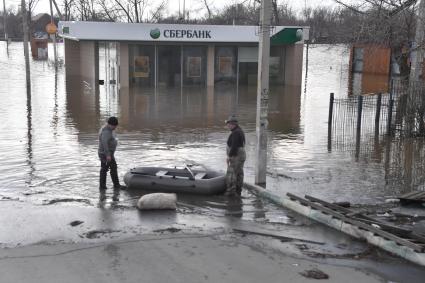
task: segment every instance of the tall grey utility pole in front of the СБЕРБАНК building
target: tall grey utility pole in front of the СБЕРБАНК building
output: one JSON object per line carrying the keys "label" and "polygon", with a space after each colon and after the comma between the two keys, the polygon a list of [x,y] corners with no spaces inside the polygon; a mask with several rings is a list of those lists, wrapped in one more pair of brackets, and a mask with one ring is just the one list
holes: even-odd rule
{"label": "tall grey utility pole in front of the \u0421\u0411\u0415\u0420\u0411\u0410\u041d\u041a building", "polygon": [[269,107],[269,57],[271,0],[262,0],[260,12],[257,86],[257,150],[255,183],[265,184],[267,173],[267,116]]}

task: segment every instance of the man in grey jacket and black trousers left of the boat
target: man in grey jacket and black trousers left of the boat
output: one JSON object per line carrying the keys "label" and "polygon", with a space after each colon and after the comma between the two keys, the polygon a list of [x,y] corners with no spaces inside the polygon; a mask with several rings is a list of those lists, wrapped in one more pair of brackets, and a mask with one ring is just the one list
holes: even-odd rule
{"label": "man in grey jacket and black trousers left of the boat", "polygon": [[101,201],[106,199],[106,173],[108,170],[111,174],[112,183],[114,184],[114,194],[112,200],[118,201],[118,196],[122,186],[118,179],[118,166],[115,161],[114,153],[117,148],[117,139],[114,130],[118,126],[118,119],[110,117],[105,126],[99,131],[99,150],[98,155],[100,159],[100,178],[99,178],[99,199]]}

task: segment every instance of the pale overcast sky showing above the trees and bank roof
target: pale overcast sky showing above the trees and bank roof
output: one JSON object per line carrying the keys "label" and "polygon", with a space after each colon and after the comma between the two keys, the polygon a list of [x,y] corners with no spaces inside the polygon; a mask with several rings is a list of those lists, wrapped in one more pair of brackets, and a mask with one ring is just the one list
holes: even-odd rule
{"label": "pale overcast sky showing above the trees and bank roof", "polygon": [[[13,6],[15,9],[20,5],[21,0],[5,0],[6,7]],[[28,1],[28,0],[27,0]],[[61,0],[56,0],[58,5],[61,5]],[[160,2],[160,0],[149,0],[151,3]],[[345,0],[346,2],[355,1],[355,0]],[[176,14],[180,9],[183,8],[183,2],[185,2],[186,10],[198,10],[203,8],[203,0],[168,0],[167,12],[168,14]],[[233,3],[242,3],[246,2],[246,0],[207,0],[210,6],[217,10],[221,9],[225,5],[231,5]],[[307,7],[316,7],[319,5],[322,6],[335,6],[335,2],[333,0],[283,0],[279,1],[279,3],[289,3],[294,9],[301,10],[305,6]],[[3,10],[3,5],[0,5],[1,10]],[[39,0],[37,7],[35,9],[35,14],[37,13],[50,13],[49,8],[49,0]]]}

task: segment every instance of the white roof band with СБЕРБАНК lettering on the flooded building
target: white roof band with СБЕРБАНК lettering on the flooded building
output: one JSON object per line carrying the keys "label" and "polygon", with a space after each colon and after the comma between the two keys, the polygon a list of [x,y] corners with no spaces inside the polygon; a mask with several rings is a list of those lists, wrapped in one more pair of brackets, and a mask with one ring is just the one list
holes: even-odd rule
{"label": "white roof band with \u0421\u0411\u0415\u0420\u0411\u0410\u041d\u041a lettering on the flooded building", "polygon": [[[301,30],[297,41],[308,39],[308,27],[276,26],[271,36],[285,29]],[[258,26],[184,25],[113,22],[59,22],[59,36],[72,40],[151,42],[258,43]],[[292,42],[294,43],[294,42]]]}

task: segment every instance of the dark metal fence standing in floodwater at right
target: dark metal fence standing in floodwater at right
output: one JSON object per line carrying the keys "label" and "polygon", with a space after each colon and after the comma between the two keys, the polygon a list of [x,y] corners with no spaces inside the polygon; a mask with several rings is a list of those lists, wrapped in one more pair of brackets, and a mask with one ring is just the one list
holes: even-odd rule
{"label": "dark metal fence standing in floodwater at right", "polygon": [[382,134],[424,137],[424,118],[425,82],[393,80],[389,93],[344,99],[334,99],[331,94],[329,139],[349,145]]}

